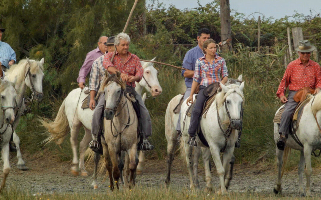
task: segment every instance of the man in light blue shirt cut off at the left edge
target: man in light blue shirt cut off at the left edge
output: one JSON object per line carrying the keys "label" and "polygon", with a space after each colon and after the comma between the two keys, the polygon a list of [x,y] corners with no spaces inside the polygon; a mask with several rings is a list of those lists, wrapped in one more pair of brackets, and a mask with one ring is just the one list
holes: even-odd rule
{"label": "man in light blue shirt cut off at the left edge", "polygon": [[[2,42],[2,34],[5,31],[4,28],[0,28],[0,65],[3,70],[9,69],[10,65],[16,63],[16,53],[11,46],[5,42]],[[2,70],[0,70],[2,76]]]}

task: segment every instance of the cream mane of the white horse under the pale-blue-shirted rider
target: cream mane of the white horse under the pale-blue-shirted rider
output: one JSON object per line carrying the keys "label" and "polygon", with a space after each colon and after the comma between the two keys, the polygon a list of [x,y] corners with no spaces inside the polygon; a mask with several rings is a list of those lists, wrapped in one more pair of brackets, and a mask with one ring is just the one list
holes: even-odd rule
{"label": "cream mane of the white horse under the pale-blue-shirted rider", "polygon": [[[30,72],[31,73],[37,73],[40,69],[44,71],[43,66],[37,61],[37,60],[29,60],[31,61],[31,66],[30,66]],[[26,72],[28,70],[28,60],[27,59],[22,59],[20,60],[17,64],[12,65],[7,73],[6,77],[9,81],[13,82],[15,77],[17,76],[17,82],[21,82],[26,75]]]}

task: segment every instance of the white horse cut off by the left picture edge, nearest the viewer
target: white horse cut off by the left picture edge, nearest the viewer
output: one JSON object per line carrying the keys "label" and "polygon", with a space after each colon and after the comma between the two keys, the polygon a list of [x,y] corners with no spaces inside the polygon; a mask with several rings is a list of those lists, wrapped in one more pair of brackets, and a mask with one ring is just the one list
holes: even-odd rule
{"label": "white horse cut off by the left picture edge, nearest the viewer", "polygon": [[9,164],[9,141],[13,132],[12,123],[14,121],[14,103],[17,96],[14,83],[0,79],[0,149],[3,160],[3,180],[0,192],[3,190],[5,180],[10,172]]}

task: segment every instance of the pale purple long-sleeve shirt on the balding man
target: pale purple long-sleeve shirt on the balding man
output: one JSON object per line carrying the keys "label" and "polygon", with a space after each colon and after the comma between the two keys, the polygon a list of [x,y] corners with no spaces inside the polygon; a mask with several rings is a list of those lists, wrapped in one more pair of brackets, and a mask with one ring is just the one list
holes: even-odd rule
{"label": "pale purple long-sleeve shirt on the balding man", "polygon": [[81,83],[81,82],[85,83],[86,76],[90,72],[92,64],[97,58],[99,58],[102,55],[104,55],[104,53],[101,52],[98,47],[87,53],[86,59],[79,70],[79,76],[77,78],[78,83]]}

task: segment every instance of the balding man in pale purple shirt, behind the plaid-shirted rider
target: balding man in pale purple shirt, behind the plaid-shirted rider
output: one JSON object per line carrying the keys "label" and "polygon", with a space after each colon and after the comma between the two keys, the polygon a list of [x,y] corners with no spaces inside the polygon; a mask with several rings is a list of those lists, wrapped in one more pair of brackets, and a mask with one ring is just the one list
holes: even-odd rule
{"label": "balding man in pale purple shirt, behind the plaid-shirted rider", "polygon": [[107,42],[107,39],[108,37],[101,36],[98,40],[98,47],[87,53],[86,59],[79,70],[79,76],[77,78],[77,82],[79,83],[78,86],[81,89],[85,87],[85,79],[91,70],[93,62],[108,51],[108,46],[104,44],[105,42]]}

